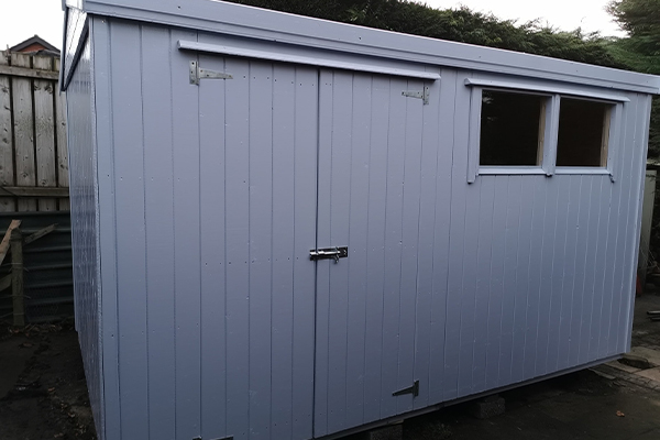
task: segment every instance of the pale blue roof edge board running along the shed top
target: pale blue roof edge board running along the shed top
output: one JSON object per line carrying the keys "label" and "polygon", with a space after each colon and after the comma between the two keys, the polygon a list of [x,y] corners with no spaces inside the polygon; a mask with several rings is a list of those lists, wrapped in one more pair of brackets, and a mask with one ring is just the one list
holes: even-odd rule
{"label": "pale blue roof edge board running along the shed top", "polygon": [[218,0],[63,0],[89,14],[448,67],[660,94],[660,77]]}

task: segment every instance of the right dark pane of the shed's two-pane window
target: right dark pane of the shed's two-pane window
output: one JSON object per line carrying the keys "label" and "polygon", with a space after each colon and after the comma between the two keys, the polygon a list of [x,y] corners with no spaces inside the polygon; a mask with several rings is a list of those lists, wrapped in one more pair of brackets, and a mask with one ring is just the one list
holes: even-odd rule
{"label": "right dark pane of the shed's two-pane window", "polygon": [[562,98],[557,166],[607,166],[612,105]]}

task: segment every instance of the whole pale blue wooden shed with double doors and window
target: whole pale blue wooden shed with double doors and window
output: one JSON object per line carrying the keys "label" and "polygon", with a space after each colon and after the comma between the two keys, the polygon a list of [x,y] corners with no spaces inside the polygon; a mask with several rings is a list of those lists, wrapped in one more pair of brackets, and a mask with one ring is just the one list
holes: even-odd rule
{"label": "whole pale blue wooden shed with double doors and window", "polygon": [[211,0],[65,0],[100,439],[334,438],[630,346],[660,78]]}

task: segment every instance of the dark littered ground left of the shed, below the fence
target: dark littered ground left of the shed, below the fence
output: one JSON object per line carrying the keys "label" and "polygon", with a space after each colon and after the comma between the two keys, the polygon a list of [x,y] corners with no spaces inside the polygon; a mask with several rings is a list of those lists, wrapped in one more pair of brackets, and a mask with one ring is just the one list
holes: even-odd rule
{"label": "dark littered ground left of the shed, below the fence", "polygon": [[96,439],[70,324],[0,327],[0,439]]}

